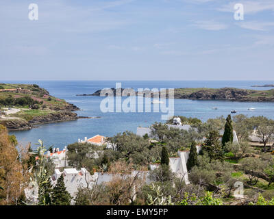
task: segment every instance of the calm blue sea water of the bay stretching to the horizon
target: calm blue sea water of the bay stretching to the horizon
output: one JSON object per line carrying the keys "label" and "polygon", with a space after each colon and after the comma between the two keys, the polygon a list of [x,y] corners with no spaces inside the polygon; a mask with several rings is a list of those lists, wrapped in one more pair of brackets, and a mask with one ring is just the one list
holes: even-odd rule
{"label": "calm blue sea water of the bay stretching to the horizon", "polygon": [[[116,81],[3,81],[5,83],[37,83],[47,89],[51,95],[65,99],[77,105],[79,116],[101,116],[95,119],[79,119],[64,123],[40,125],[29,131],[13,131],[18,141],[35,144],[38,139],[45,145],[54,145],[62,149],[65,145],[77,142],[78,138],[92,137],[97,134],[113,136],[126,130],[136,132],[138,126],[148,127],[155,121],[161,121],[162,113],[102,113],[100,96],[75,96],[90,94],[101,88],[114,88]],[[274,81],[117,81],[123,88],[250,88],[253,84],[274,83]],[[253,88],[267,90],[269,88]],[[212,110],[218,107],[219,110]],[[249,107],[255,111],[247,110]],[[152,108],[151,108],[152,109]],[[267,116],[274,118],[274,103],[239,103],[230,101],[191,101],[175,99],[175,115],[191,116],[206,121],[216,116],[227,116],[231,110],[248,116]]]}

